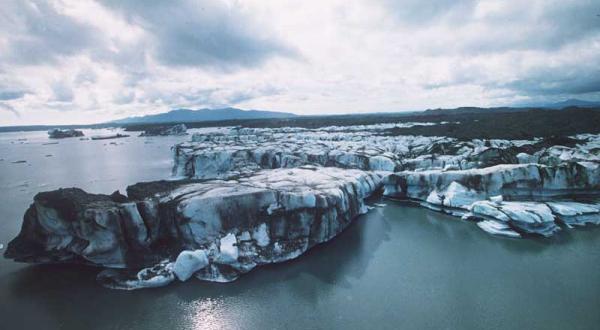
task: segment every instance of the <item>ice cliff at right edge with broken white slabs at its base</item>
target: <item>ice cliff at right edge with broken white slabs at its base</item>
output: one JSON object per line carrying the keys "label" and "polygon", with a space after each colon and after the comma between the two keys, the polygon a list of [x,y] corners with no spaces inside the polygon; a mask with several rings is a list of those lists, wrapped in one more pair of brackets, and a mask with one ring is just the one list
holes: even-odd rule
{"label": "ice cliff at right edge with broken white slabs at its base", "polygon": [[[551,236],[561,223],[600,223],[600,204],[593,199],[600,192],[600,164],[595,162],[400,172],[384,181],[386,196],[421,201],[467,220],[484,220],[479,227],[492,234]],[[573,198],[591,202],[562,201]]]}

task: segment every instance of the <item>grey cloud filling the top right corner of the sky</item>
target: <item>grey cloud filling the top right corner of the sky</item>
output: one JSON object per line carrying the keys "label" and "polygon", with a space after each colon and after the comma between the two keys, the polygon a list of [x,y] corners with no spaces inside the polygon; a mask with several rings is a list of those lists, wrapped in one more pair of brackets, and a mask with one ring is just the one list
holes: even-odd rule
{"label": "grey cloud filling the top right corner of the sky", "polygon": [[422,46],[441,56],[556,50],[600,34],[596,0],[502,1],[499,10],[485,14],[486,2],[475,0],[382,1],[401,26],[445,27],[439,38]]}

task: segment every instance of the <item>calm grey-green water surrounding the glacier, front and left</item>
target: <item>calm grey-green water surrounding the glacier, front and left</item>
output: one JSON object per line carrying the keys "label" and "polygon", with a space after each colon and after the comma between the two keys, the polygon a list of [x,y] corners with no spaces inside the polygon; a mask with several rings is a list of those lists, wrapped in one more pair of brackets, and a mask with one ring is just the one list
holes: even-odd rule
{"label": "calm grey-green water surrounding the glacier, front and left", "polygon": [[[45,132],[0,134],[0,243],[17,234],[36,192],[78,186],[111,193],[167,178],[170,146],[184,139],[43,145]],[[12,163],[18,160],[27,163]],[[192,279],[112,291],[95,283],[96,269],[1,259],[0,328],[600,327],[600,228],[551,241],[500,239],[449,216],[383,202],[334,241],[229,284]]]}

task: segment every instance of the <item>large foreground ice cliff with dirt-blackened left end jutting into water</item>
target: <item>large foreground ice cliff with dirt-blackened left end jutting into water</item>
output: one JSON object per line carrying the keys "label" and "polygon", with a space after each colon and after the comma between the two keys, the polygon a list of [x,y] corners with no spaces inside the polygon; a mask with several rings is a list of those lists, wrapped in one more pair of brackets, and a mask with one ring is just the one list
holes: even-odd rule
{"label": "large foreground ice cliff with dirt-blackened left end jutting into water", "polygon": [[375,173],[309,166],[231,181],[140,183],[127,197],[59,189],[36,195],[5,256],[110,268],[99,280],[115,288],[190,273],[226,282],[332,239],[380,187]]}

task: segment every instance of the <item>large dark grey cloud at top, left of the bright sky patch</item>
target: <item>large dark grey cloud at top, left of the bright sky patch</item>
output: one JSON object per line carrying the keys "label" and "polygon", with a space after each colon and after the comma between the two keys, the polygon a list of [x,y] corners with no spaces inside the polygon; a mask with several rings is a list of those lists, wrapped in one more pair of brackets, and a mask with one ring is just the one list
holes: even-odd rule
{"label": "large dark grey cloud at top, left of the bright sky patch", "polygon": [[217,0],[102,1],[151,35],[154,56],[172,66],[219,69],[248,67],[274,55],[291,55],[286,46],[256,29],[236,7]]}

